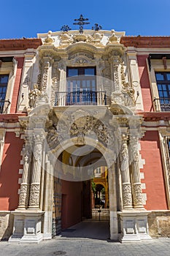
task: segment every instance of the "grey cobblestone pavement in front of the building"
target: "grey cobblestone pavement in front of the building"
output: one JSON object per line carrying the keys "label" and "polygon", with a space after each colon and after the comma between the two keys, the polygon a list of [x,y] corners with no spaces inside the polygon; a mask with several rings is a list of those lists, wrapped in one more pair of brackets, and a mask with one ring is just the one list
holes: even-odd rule
{"label": "grey cobblestone pavement in front of the building", "polygon": [[56,237],[40,244],[9,244],[0,242],[0,256],[169,256],[170,238],[120,244],[92,238]]}

